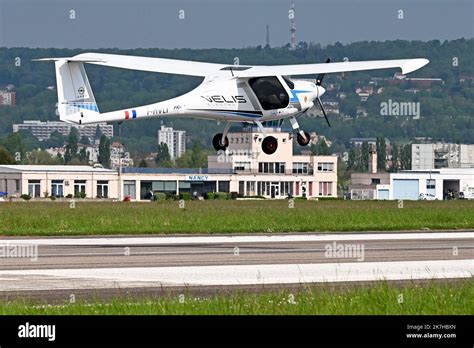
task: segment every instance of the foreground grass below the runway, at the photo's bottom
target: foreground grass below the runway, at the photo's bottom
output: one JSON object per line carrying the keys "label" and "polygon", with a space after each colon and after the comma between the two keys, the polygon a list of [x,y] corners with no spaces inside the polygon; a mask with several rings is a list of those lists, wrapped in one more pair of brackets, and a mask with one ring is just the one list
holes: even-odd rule
{"label": "foreground grass below the runway, at the photo's bottom", "polygon": [[394,286],[308,288],[260,294],[234,293],[195,298],[176,295],[154,299],[114,299],[106,303],[38,305],[25,301],[0,302],[0,315],[182,315],[182,314],[431,314],[474,313],[474,282],[426,283]]}

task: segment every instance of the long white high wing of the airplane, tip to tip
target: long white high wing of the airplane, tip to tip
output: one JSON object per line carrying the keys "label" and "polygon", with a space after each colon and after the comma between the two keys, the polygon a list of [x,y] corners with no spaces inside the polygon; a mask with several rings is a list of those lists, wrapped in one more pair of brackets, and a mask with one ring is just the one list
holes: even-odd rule
{"label": "long white high wing of the airplane, tip to tip", "polygon": [[388,68],[401,68],[402,73],[407,74],[429,63],[428,59],[416,58],[320,64],[243,66],[103,53],[82,53],[70,58],[43,58],[38,60],[77,61],[122,69],[202,77],[222,75],[224,73],[231,73],[232,76],[236,77],[296,76]]}

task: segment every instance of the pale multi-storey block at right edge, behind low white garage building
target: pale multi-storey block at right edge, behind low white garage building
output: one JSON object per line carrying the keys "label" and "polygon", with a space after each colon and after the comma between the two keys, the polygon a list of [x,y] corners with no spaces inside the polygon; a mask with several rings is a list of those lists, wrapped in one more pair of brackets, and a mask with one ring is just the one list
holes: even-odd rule
{"label": "pale multi-storey block at right edge, behind low white garage building", "polygon": [[412,170],[474,168],[474,145],[412,144]]}

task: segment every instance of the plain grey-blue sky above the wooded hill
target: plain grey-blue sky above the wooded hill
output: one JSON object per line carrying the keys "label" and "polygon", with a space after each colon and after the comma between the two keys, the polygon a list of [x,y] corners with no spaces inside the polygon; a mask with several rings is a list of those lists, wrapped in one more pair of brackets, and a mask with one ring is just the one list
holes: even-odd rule
{"label": "plain grey-blue sky above the wooded hill", "polygon": [[[297,42],[474,37],[474,0],[295,1]],[[289,9],[290,0],[0,0],[0,47],[243,48],[265,45],[267,24],[270,45],[283,46]]]}

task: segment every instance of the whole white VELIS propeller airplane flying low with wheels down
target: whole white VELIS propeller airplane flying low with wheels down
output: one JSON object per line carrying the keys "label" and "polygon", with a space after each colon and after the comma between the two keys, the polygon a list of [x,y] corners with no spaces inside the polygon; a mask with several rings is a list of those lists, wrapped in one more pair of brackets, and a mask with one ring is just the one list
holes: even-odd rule
{"label": "whole white VELIS propeller airplane flying low with wheels down", "polygon": [[[44,58],[54,61],[61,121],[88,124],[131,121],[160,117],[194,117],[224,121],[223,133],[216,134],[213,145],[225,150],[227,133],[233,122],[247,122],[259,127],[264,135],[262,150],[273,154],[278,147],[275,137],[267,136],[262,122],[288,118],[301,146],[310,142],[309,134],[300,129],[296,118],[317,102],[326,121],[321,86],[327,73],[373,69],[401,68],[403,74],[415,71],[429,61],[424,58],[375,60],[323,64],[275,66],[227,65],[175,59],[126,55],[83,53],[69,58]],[[124,110],[100,113],[84,63],[167,74],[204,77],[194,90],[166,101]],[[288,76],[318,74],[316,81],[292,81]]]}

